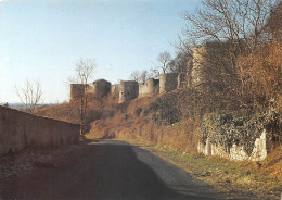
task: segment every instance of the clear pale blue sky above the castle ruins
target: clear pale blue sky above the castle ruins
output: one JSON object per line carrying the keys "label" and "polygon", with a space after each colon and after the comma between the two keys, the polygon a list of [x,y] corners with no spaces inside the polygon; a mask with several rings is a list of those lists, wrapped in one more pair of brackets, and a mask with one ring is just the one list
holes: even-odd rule
{"label": "clear pale blue sky above the castle ruins", "polygon": [[65,82],[80,58],[94,59],[94,79],[113,84],[150,70],[171,46],[200,0],[0,0],[0,102],[15,86],[42,83],[44,103],[68,100]]}

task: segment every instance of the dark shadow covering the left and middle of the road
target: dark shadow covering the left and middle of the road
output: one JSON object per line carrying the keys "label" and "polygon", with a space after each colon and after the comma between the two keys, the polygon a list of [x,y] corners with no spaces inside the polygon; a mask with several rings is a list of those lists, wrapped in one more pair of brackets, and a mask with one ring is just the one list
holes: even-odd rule
{"label": "dark shadow covering the left and middle of the road", "polygon": [[89,145],[89,151],[68,166],[44,168],[12,183],[4,199],[161,200],[208,199],[179,193],[166,186],[121,141]]}

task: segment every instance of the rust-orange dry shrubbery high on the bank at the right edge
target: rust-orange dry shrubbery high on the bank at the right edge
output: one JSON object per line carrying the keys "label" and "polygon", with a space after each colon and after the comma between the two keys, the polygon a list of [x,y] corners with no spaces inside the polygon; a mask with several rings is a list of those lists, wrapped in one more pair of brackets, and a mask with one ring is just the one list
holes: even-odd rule
{"label": "rust-orange dry shrubbery high on the bank at the right edge", "polygon": [[[282,43],[270,42],[256,52],[238,60],[241,76],[241,95],[253,98],[256,109],[278,101],[282,82]],[[281,105],[281,104],[280,104]],[[279,107],[278,107],[279,108]]]}

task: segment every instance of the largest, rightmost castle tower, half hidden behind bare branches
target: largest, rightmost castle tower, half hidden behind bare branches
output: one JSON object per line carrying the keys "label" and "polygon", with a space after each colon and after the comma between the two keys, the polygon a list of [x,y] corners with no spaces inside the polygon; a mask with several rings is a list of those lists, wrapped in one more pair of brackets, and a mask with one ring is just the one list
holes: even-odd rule
{"label": "largest, rightmost castle tower, half hidden behind bare branches", "polygon": [[205,92],[228,92],[238,84],[230,51],[232,43],[207,42],[193,48],[193,65],[190,86]]}

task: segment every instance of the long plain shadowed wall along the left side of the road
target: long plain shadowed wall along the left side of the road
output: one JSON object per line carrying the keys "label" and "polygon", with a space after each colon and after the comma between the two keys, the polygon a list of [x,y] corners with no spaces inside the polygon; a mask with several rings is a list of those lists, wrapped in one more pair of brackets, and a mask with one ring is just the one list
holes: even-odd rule
{"label": "long plain shadowed wall along the left side of the road", "polygon": [[76,143],[79,125],[0,107],[0,154],[26,147]]}

